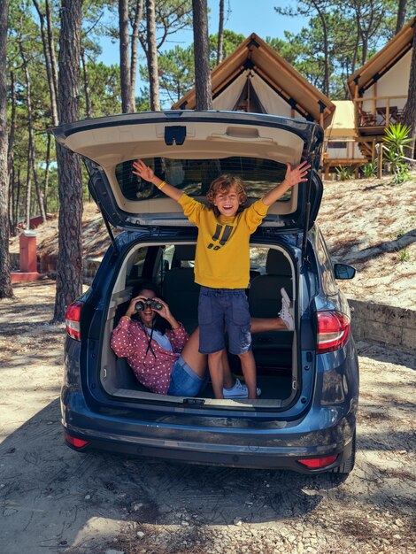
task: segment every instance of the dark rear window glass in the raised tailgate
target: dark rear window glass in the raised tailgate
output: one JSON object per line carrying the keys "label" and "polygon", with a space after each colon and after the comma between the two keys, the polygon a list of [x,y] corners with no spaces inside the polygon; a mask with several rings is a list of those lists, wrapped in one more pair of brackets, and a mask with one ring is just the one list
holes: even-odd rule
{"label": "dark rear window glass in the raised tailgate", "polygon": [[[128,200],[144,200],[165,196],[147,181],[132,173],[129,160],[116,166],[119,188]],[[183,190],[189,196],[205,196],[214,179],[223,173],[238,175],[243,179],[249,198],[258,199],[283,181],[286,165],[262,158],[170,159],[143,158],[160,179]],[[281,197],[287,202],[291,189]]]}

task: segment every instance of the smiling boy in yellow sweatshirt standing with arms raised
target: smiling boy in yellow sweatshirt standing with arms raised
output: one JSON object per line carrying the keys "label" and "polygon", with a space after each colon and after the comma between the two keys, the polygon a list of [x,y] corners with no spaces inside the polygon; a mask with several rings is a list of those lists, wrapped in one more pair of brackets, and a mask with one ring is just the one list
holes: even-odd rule
{"label": "smiling boy in yellow sweatshirt standing with arms raised", "polygon": [[[216,398],[257,398],[256,364],[251,351],[250,312],[245,294],[250,281],[250,235],[266,217],[267,210],[288,189],[302,181],[311,165],[304,161],[291,169],[287,164],[281,184],[250,207],[239,211],[247,195],[241,179],[220,175],[212,181],[207,193],[207,208],[181,190],[159,179],[142,160],[133,163],[133,173],[162,189],[181,204],[184,214],[198,227],[195,257],[195,281],[201,285],[198,304],[200,327],[199,351],[208,354],[212,389]],[[293,330],[289,297],[282,289],[282,328]],[[235,381],[232,389],[224,388],[221,357],[225,350],[227,327],[228,350],[241,361],[247,387]]]}

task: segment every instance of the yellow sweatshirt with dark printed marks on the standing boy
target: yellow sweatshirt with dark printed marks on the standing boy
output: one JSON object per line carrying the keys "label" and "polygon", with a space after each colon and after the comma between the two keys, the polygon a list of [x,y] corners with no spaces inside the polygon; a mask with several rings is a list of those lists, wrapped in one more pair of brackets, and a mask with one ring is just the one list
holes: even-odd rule
{"label": "yellow sweatshirt with dark printed marks on the standing boy", "polygon": [[194,198],[179,199],[184,214],[198,227],[195,281],[212,289],[246,289],[250,281],[250,235],[266,217],[258,200],[234,217],[215,213]]}

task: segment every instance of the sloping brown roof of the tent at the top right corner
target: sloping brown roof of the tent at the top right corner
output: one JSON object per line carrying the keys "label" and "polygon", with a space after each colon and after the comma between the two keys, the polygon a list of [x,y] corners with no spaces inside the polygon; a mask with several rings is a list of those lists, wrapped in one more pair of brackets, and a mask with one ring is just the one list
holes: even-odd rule
{"label": "sloping brown roof of the tent at the top right corner", "polygon": [[351,97],[354,97],[355,82],[358,84],[358,90],[366,90],[412,48],[414,25],[416,25],[416,17],[409,21],[373,58],[351,75],[347,81]]}

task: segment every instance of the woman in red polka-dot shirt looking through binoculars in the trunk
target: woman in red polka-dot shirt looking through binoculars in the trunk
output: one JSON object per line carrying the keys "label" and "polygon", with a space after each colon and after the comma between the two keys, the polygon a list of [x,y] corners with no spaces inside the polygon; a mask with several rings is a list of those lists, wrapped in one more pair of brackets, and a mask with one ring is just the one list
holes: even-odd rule
{"label": "woman in red polka-dot shirt looking through binoculars in the trunk", "polygon": [[[207,357],[198,351],[199,328],[189,335],[151,282],[143,282],[133,296],[112,332],[112,350],[127,359],[137,380],[151,392],[199,395],[207,382]],[[285,328],[280,318],[251,319],[251,333]],[[222,367],[224,398],[247,398],[247,387],[231,374],[226,352]]]}

